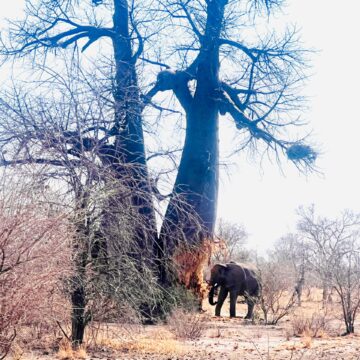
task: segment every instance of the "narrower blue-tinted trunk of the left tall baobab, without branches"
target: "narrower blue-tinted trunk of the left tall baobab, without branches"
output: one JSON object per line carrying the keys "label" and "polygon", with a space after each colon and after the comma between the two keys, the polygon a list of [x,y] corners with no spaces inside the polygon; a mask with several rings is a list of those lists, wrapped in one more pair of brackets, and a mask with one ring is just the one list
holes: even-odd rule
{"label": "narrower blue-tinted trunk of the left tall baobab, without branches", "polygon": [[[157,237],[155,211],[146,164],[142,126],[142,105],[136,73],[136,56],[133,54],[129,33],[129,5],[126,0],[114,0],[114,32],[112,38],[115,59],[115,135],[114,152],[105,152],[105,162],[114,169],[115,178],[130,190],[132,211],[135,212],[134,237],[139,249],[152,254]],[[123,194],[110,200],[108,211],[116,209]],[[111,222],[111,214],[105,224]],[[109,224],[106,224],[109,226]],[[104,226],[104,228],[106,227]],[[111,226],[111,225],[110,225]],[[143,251],[138,259],[149,261],[152,255]]]}

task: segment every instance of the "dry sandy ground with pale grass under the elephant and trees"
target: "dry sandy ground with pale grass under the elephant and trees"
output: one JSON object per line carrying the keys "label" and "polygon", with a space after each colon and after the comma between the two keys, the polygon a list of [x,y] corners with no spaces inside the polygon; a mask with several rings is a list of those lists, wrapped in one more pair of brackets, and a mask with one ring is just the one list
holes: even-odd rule
{"label": "dry sandy ground with pale grass under the elephant and trees", "polygon": [[[309,297],[295,310],[295,317],[309,317],[322,311],[321,301],[314,299],[313,294]],[[86,349],[77,354],[60,346],[56,353],[38,350],[13,359],[360,360],[360,322],[355,325],[357,334],[341,336],[344,326],[338,305],[326,315],[326,330],[319,331],[315,338],[306,333],[294,336],[294,314],[276,326],[265,326],[245,321],[241,317],[246,310],[243,304],[238,304],[240,316],[235,319],[228,317],[228,302],[221,318],[213,316],[214,308],[210,305],[204,303],[204,307],[206,311],[200,315],[203,332],[198,340],[179,339],[169,325],[108,324],[93,332]]]}

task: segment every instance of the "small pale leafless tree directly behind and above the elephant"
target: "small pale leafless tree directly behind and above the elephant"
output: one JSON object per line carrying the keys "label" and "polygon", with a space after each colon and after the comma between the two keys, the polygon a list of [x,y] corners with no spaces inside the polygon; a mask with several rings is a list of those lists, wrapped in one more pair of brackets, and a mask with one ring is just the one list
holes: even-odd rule
{"label": "small pale leafless tree directly behind and above the elephant", "polygon": [[220,219],[216,237],[218,240],[215,244],[217,249],[213,252],[214,261],[226,263],[231,260],[249,260],[249,251],[245,248],[248,234],[243,225]]}

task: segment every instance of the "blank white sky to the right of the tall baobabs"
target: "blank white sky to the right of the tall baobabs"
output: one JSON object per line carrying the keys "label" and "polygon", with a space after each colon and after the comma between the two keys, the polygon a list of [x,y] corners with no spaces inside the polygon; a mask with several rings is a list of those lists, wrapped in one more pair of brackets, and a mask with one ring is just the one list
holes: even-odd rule
{"label": "blank white sky to the right of the tall baobabs", "polygon": [[[1,17],[14,18],[23,0],[2,1]],[[231,159],[236,166],[221,172],[218,216],[245,225],[249,245],[258,250],[295,230],[295,209],[315,203],[323,215],[345,208],[360,211],[360,142],[357,106],[360,103],[358,0],[288,0],[279,22],[296,22],[305,47],[313,55],[314,74],[305,94],[310,96],[306,119],[321,146],[317,165],[323,176],[305,177],[294,166]],[[221,138],[221,142],[227,139]]]}

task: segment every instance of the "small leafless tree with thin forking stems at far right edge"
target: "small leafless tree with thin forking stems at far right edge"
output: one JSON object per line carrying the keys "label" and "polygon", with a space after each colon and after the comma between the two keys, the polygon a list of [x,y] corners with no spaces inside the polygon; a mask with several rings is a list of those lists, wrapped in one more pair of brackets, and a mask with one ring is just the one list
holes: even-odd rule
{"label": "small leafless tree with thin forking stems at far right edge", "polygon": [[346,210],[340,217],[329,219],[316,215],[314,205],[300,207],[298,215],[298,229],[307,247],[307,262],[321,279],[325,304],[334,271],[342,255],[348,251],[349,240],[359,227],[360,216]]}

